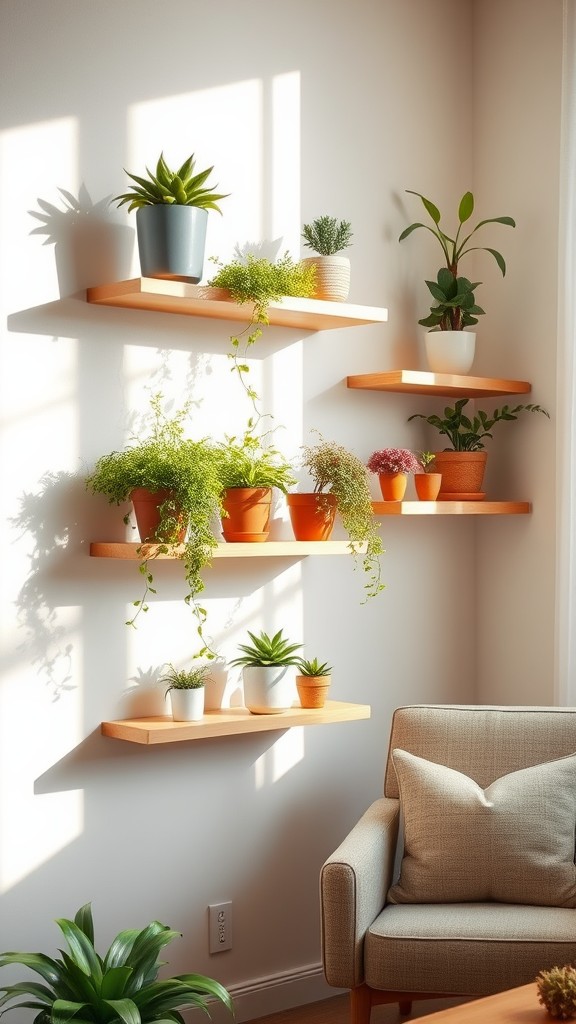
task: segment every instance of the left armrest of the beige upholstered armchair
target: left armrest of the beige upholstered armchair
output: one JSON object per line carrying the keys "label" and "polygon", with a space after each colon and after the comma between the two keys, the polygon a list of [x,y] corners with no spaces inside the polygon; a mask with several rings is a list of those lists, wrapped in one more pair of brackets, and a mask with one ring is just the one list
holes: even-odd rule
{"label": "left armrest of the beige upholstered armchair", "polygon": [[355,988],[364,981],[364,937],[392,885],[399,816],[399,800],[376,800],[322,866],[322,958],[329,985]]}

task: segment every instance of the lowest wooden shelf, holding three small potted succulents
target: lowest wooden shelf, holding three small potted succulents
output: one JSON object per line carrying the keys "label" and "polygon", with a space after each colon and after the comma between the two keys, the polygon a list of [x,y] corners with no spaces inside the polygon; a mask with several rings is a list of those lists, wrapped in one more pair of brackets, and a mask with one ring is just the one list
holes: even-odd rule
{"label": "lowest wooden shelf, holding three small potted succulents", "polygon": [[294,707],[279,715],[251,715],[246,708],[208,711],[201,722],[173,722],[171,718],[131,718],[102,722],[101,732],[113,739],[130,743],[176,743],[186,739],[211,739],[238,736],[248,732],[273,732],[297,725],[329,725],[332,722],[357,722],[370,718],[370,705],[327,700],[324,708],[308,711]]}

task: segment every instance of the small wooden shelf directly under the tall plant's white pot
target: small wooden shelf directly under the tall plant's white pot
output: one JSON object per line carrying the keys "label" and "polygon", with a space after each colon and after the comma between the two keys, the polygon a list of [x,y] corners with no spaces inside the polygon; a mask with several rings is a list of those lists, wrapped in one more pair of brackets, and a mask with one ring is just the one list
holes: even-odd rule
{"label": "small wooden shelf directly under the tall plant's white pot", "polygon": [[500,377],[463,377],[457,374],[431,374],[425,370],[389,370],[382,374],[356,374],[346,377],[346,386],[367,391],[395,391],[407,394],[436,394],[474,398],[482,395],[527,394],[528,381],[508,381]]}

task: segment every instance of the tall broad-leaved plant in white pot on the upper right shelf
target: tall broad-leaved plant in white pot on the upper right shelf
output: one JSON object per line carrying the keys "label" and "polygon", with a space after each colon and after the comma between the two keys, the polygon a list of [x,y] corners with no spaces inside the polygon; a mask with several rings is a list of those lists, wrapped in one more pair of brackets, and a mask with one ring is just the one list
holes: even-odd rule
{"label": "tall broad-leaved plant in white pot on the upper right shelf", "polygon": [[[505,224],[508,227],[516,227],[516,221],[511,217],[490,217],[479,221],[471,230],[468,230],[467,226],[463,228],[475,208],[474,196],[471,191],[467,191],[462,196],[458,206],[456,233],[454,238],[450,238],[440,226],[441,213],[438,207],[420,193],[411,188],[406,190],[410,196],[417,196],[421,200],[431,220],[431,226],[420,222],[410,224],[404,228],[399,241],[407,239],[416,228],[423,227],[438,239],[445,260],[445,265],[439,270],[436,281],[426,281],[435,304],[430,306],[428,315],[418,321],[422,327],[429,329],[425,336],[428,367],[435,373],[466,374],[474,362],[476,334],[466,331],[465,328],[478,324],[478,316],[483,315],[485,310],[477,305],[475,296],[475,291],[482,282],[472,283],[467,278],[461,276],[459,264],[467,253],[480,250],[494,257],[503,276],[506,264],[502,255],[495,249],[470,245],[470,240],[479,228],[486,224]],[[462,228],[467,232],[464,237]]]}

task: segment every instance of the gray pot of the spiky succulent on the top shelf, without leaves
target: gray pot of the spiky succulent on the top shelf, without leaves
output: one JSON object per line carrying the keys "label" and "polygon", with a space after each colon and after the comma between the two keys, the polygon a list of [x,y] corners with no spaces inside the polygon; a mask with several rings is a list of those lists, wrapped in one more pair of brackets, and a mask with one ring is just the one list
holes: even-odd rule
{"label": "gray pot of the spiky succulent on the top shelf, without leaves", "polygon": [[204,268],[208,211],[196,206],[142,206],[136,211],[143,278],[197,284]]}

